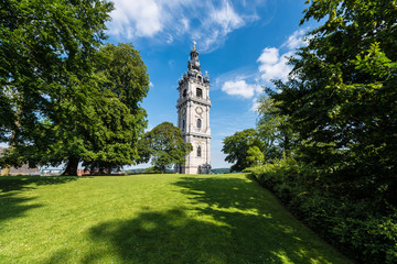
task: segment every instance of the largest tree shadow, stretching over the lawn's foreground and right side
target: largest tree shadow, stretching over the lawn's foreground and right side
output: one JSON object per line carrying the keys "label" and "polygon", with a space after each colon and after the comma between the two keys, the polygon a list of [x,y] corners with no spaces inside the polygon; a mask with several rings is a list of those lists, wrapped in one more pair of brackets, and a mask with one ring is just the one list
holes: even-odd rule
{"label": "largest tree shadow, stretching over the lawn's foreground and right side", "polygon": [[82,263],[348,263],[330,248],[324,253],[248,179],[184,177],[174,185],[193,209],[142,211],[93,227],[97,248]]}

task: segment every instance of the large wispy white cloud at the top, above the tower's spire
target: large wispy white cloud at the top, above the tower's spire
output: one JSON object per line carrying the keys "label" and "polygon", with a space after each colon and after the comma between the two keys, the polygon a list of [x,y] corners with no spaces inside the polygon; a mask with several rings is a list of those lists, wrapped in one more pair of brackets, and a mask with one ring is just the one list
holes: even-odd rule
{"label": "large wispy white cloud at the top, above the tower's spire", "polygon": [[202,52],[224,43],[227,35],[258,20],[256,8],[264,1],[244,7],[238,0],[115,0],[109,34],[124,40],[154,37],[196,40]]}

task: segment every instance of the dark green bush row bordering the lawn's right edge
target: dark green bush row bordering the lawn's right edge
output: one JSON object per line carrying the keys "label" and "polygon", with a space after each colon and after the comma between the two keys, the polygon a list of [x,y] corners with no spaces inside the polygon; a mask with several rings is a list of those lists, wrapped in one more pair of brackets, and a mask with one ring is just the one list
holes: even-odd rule
{"label": "dark green bush row bordering the lawn's right edge", "polygon": [[247,172],[346,255],[360,263],[397,263],[395,207],[382,199],[341,195],[324,184],[324,170],[291,158]]}

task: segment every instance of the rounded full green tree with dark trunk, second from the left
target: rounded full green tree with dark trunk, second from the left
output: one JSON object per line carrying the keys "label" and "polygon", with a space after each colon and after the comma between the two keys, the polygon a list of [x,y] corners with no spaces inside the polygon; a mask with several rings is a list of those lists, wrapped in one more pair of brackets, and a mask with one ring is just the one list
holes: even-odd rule
{"label": "rounded full green tree with dark trunk, second from the left", "polygon": [[[147,68],[130,44],[107,44],[93,56],[94,73],[78,84],[76,96],[60,98],[60,110],[50,122],[52,139],[43,146],[46,162],[66,163],[65,175],[77,165],[111,173],[138,160],[137,142],[147,125],[140,106],[149,90]],[[62,124],[62,125],[60,125]],[[41,153],[42,153],[41,152]]]}

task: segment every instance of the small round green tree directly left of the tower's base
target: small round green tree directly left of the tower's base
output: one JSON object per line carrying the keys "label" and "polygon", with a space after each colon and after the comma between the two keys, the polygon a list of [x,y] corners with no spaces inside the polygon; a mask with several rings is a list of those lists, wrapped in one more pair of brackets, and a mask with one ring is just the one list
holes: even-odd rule
{"label": "small round green tree directly left of the tower's base", "polygon": [[185,143],[182,131],[170,122],[163,122],[147,132],[140,142],[142,162],[151,160],[162,173],[173,164],[184,164],[185,156],[192,152],[191,143]]}

